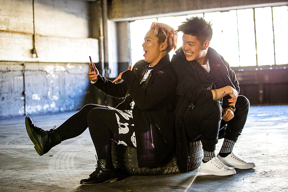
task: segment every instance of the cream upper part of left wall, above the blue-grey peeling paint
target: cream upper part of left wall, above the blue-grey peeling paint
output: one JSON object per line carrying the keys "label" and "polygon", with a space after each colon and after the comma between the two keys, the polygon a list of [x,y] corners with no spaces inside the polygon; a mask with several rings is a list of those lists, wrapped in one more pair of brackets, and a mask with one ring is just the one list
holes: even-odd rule
{"label": "cream upper part of left wall, above the blue-grey peeling paint", "polygon": [[0,61],[99,62],[98,39],[90,37],[90,3],[74,0],[0,1]]}

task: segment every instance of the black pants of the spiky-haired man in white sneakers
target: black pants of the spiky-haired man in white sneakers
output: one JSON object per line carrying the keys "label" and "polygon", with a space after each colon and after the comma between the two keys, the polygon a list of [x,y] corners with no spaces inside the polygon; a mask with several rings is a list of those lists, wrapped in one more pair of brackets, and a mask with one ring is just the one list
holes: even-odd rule
{"label": "black pants of the spiky-haired man in white sneakers", "polygon": [[188,140],[200,137],[204,151],[215,151],[219,128],[227,124],[224,138],[236,142],[245,126],[249,106],[249,100],[245,96],[238,96],[234,117],[230,121],[221,120],[222,107],[216,100],[209,100],[193,108],[188,107],[184,113],[184,125]]}

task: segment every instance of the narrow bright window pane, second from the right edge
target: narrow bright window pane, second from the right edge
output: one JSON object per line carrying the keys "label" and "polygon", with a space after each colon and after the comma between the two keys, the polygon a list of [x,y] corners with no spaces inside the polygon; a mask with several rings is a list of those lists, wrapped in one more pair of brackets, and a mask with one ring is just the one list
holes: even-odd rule
{"label": "narrow bright window pane, second from the right edge", "polygon": [[255,26],[257,41],[257,63],[259,66],[274,65],[275,60],[271,7],[255,9]]}

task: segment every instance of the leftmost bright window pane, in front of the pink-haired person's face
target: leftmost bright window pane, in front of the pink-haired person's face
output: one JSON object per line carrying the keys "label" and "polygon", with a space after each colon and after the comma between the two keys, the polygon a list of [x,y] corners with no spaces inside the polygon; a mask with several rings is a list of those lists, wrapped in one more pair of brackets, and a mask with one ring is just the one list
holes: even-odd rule
{"label": "leftmost bright window pane, in front of the pink-haired person's face", "polygon": [[143,19],[130,22],[130,41],[131,41],[131,63],[132,66],[139,60],[144,59],[143,47],[144,38],[149,31],[152,22],[156,22],[157,19]]}

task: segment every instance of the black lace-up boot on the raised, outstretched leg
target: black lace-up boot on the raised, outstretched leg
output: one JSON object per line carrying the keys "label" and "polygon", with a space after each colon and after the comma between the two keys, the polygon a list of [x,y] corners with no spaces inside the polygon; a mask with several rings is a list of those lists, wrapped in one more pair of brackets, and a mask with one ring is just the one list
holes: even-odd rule
{"label": "black lace-up boot on the raised, outstretched leg", "polygon": [[34,148],[39,155],[47,153],[52,147],[61,143],[61,137],[56,129],[45,131],[34,125],[30,117],[25,118],[26,130],[29,138],[35,145]]}

